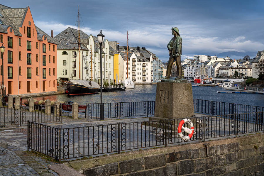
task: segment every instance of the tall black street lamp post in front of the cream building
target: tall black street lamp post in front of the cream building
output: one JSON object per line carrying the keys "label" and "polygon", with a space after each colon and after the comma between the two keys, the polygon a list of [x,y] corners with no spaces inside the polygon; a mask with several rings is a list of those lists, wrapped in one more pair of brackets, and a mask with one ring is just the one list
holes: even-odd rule
{"label": "tall black street lamp post in front of the cream building", "polygon": [[100,84],[100,97],[101,97],[101,104],[100,104],[100,120],[104,120],[104,104],[103,104],[103,74],[102,74],[102,43],[104,42],[104,34],[101,32],[97,35],[97,40],[100,45],[100,77],[101,77],[101,84]]}

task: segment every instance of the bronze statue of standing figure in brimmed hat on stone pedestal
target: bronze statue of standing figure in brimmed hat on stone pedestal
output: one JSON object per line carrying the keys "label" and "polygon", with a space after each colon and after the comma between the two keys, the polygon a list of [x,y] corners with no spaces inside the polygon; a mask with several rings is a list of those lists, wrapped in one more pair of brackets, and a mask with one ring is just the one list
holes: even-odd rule
{"label": "bronze statue of standing figure in brimmed hat on stone pedestal", "polygon": [[177,73],[178,73],[178,77],[176,77],[175,79],[181,79],[182,78],[182,65],[181,65],[182,38],[180,37],[178,28],[171,28],[171,32],[172,35],[174,35],[174,37],[172,37],[172,39],[167,45],[170,58],[167,65],[167,74],[163,79],[170,79],[171,68],[174,60],[176,61]]}

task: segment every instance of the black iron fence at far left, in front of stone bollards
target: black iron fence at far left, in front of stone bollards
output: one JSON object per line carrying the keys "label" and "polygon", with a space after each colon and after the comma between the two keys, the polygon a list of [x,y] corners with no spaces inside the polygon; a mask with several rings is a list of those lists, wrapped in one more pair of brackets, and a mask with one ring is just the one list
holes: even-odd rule
{"label": "black iron fence at far left, in front of stone bollards", "polygon": [[38,123],[62,122],[61,105],[0,107],[0,126],[22,125],[27,121]]}

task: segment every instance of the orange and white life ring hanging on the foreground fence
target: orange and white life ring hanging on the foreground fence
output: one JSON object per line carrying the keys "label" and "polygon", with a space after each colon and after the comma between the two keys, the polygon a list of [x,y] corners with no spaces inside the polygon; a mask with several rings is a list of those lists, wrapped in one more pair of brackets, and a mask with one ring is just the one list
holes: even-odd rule
{"label": "orange and white life ring hanging on the foreground fence", "polygon": [[[189,126],[191,127],[191,129],[187,128],[187,127],[183,127],[183,124],[185,124],[185,123],[188,123]],[[182,129],[186,133],[188,133],[189,135],[188,136],[184,136],[182,134]],[[190,119],[183,119],[182,121],[180,121],[179,126],[178,126],[178,135],[180,136],[180,138],[182,138],[182,140],[189,141],[192,138],[193,133],[194,133],[194,126],[193,126],[193,123],[192,123],[192,121]]]}

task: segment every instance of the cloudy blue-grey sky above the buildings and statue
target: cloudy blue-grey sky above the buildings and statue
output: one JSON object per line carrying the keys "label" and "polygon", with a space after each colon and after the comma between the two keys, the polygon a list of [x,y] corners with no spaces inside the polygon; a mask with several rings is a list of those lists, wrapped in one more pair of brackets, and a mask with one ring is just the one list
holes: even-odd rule
{"label": "cloudy blue-grey sky above the buildings and statue", "polygon": [[[4,2],[2,2],[4,3]],[[1,3],[1,4],[2,4]],[[100,29],[109,41],[145,47],[160,60],[168,60],[171,27],[178,27],[183,40],[182,58],[193,55],[255,57],[264,49],[263,0],[12,0],[4,5],[30,6],[35,25],[50,34],[67,27],[97,35]]]}

